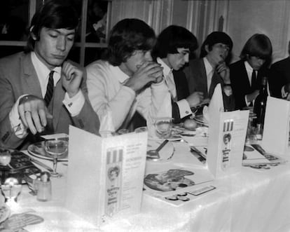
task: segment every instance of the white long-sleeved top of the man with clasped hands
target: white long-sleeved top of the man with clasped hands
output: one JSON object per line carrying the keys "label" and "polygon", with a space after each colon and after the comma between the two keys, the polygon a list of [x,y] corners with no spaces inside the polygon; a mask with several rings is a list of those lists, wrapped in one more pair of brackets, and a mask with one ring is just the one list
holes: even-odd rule
{"label": "white long-sleeved top of the man with clasped hands", "polygon": [[[119,67],[104,60],[97,60],[86,67],[88,97],[99,116],[100,133],[126,127],[135,111],[144,116],[147,125],[157,116],[171,116],[171,97],[164,81],[136,95],[123,83],[130,78]],[[125,122],[126,121],[126,122]]]}

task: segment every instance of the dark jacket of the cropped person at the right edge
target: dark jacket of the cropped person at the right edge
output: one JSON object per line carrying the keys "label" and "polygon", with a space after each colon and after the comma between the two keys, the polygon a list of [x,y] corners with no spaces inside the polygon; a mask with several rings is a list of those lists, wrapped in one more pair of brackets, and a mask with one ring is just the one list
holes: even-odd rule
{"label": "dark jacket of the cropped person at the right edge", "polygon": [[272,64],[268,78],[272,97],[281,98],[281,89],[290,83],[290,57]]}

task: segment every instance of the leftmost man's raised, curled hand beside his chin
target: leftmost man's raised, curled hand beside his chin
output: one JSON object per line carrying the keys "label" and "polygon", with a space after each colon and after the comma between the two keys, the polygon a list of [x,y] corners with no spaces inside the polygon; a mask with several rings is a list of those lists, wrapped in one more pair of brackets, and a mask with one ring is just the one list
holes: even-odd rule
{"label": "leftmost man's raised, curled hand beside his chin", "polygon": [[62,86],[67,90],[69,97],[78,93],[83,79],[83,71],[70,62],[62,64]]}

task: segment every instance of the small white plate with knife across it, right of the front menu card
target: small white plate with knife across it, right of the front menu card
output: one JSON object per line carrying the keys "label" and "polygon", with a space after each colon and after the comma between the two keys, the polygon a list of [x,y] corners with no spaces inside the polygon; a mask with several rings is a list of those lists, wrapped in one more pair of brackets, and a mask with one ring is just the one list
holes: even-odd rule
{"label": "small white plate with knife across it, right of the front menu card", "polygon": [[[156,150],[163,141],[149,140],[147,144],[147,151]],[[160,158],[147,158],[149,162],[168,162],[174,153],[174,146],[172,142],[167,142],[165,146],[159,151]]]}

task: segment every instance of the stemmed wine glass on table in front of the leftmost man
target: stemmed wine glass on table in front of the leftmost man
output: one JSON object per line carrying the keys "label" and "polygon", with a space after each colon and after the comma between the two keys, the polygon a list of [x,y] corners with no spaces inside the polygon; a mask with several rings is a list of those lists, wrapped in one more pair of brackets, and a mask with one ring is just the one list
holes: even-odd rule
{"label": "stemmed wine glass on table in front of the leftmost man", "polygon": [[52,177],[62,177],[62,175],[57,172],[57,158],[67,152],[67,146],[67,141],[59,139],[46,140],[44,143],[44,149],[50,156],[53,157]]}

